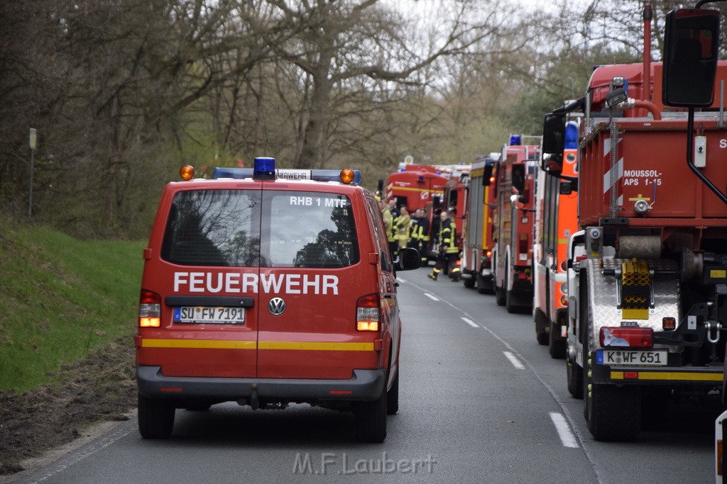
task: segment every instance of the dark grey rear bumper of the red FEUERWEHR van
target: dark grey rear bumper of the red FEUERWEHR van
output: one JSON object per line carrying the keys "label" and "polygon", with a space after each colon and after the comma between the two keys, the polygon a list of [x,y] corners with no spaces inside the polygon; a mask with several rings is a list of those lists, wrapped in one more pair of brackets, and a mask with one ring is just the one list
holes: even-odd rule
{"label": "dark grey rear bumper of the red FEUERWEHR van", "polygon": [[165,377],[161,366],[137,366],[139,393],[147,398],[216,401],[366,401],[379,398],[386,385],[385,369],[355,369],[349,380],[278,378]]}

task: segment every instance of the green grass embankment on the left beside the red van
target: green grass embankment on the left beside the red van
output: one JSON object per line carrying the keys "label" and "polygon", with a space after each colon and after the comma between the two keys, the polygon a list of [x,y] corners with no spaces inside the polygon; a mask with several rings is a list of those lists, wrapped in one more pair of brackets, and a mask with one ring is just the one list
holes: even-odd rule
{"label": "green grass embankment on the left beside the red van", "polygon": [[7,217],[0,226],[0,390],[33,390],[89,351],[131,342],[145,242],[81,241]]}

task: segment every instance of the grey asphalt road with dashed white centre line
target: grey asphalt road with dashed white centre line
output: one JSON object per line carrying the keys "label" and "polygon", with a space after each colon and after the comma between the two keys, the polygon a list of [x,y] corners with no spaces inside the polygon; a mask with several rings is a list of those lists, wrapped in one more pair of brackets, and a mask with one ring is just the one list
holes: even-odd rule
{"label": "grey asphalt road with dashed white centre line", "polygon": [[385,443],[357,443],[350,414],[225,403],[177,410],[169,440],[124,422],[17,482],[712,482],[716,414],[672,409],[634,443],[595,442],[529,314],[426,274],[399,274],[400,409]]}

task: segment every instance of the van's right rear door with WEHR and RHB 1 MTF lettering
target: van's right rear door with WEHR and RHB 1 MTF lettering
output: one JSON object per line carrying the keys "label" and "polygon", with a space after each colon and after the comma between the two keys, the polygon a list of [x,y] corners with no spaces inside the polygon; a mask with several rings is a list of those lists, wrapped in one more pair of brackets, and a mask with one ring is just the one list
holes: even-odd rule
{"label": "van's right rear door with WEHR and RHB 1 MTF lettering", "polygon": [[357,303],[380,305],[364,204],[325,188],[262,192],[258,377],[349,379],[380,364],[379,333],[356,331]]}

